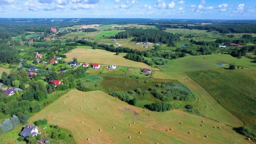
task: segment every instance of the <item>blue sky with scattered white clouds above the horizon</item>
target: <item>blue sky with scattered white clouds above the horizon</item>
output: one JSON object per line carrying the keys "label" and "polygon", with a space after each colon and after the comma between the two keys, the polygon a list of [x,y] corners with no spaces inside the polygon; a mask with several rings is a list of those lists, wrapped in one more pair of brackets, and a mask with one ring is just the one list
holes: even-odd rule
{"label": "blue sky with scattered white clouds above the horizon", "polygon": [[256,0],[0,0],[0,17],[256,19]]}

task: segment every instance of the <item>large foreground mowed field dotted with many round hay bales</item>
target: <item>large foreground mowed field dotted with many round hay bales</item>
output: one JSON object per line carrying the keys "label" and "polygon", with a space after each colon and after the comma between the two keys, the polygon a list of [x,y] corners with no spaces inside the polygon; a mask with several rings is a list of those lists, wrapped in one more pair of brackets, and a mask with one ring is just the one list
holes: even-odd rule
{"label": "large foreground mowed field dotted with many round hay bales", "polygon": [[179,110],[143,111],[102,91],[72,90],[31,117],[29,123],[43,118],[49,124],[70,130],[77,144],[250,143],[231,127],[214,120]]}

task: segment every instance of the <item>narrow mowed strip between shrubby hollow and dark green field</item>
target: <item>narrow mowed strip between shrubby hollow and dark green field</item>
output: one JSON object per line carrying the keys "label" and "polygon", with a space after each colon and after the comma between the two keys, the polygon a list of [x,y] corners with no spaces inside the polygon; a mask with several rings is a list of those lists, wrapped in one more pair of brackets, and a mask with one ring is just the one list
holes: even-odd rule
{"label": "narrow mowed strip between shrubby hollow and dark green field", "polygon": [[158,79],[176,79],[187,86],[196,96],[196,99],[199,98],[196,106],[204,116],[235,127],[244,125],[241,120],[223,108],[202,86],[191,79],[186,73],[155,71],[153,77]]}

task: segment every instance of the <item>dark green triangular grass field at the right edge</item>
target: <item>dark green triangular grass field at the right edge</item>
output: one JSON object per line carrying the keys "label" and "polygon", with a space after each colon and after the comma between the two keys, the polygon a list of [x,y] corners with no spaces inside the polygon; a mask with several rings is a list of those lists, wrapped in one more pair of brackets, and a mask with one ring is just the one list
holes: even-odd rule
{"label": "dark green triangular grass field at the right edge", "polygon": [[255,70],[205,70],[187,74],[246,126],[256,130]]}

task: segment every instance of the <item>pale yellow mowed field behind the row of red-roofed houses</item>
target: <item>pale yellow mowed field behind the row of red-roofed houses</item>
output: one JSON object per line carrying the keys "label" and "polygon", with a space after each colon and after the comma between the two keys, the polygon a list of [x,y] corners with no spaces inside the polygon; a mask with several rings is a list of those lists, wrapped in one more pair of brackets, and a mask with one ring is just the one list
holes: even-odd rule
{"label": "pale yellow mowed field behind the row of red-roofed houses", "polygon": [[108,52],[101,49],[73,49],[65,54],[67,58],[65,61],[73,61],[72,58],[77,58],[78,62],[90,62],[107,65],[122,65],[127,67],[138,67],[138,68],[150,68],[142,62],[135,62],[129,59],[125,59],[120,55],[115,55],[115,52]]}

